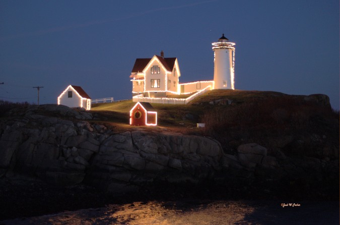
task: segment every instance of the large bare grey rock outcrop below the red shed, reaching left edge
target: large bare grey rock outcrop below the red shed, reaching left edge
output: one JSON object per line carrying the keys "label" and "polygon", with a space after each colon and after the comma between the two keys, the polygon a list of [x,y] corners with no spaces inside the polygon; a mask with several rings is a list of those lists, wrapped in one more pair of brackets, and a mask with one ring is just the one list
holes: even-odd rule
{"label": "large bare grey rock outcrop below the red shed, reaching left edge", "polygon": [[112,191],[126,191],[154,179],[210,179],[221,167],[222,148],[207,137],[143,129],[115,133],[96,123],[36,114],[40,110],[92,118],[65,106],[42,105],[3,121],[0,176],[25,175],[61,185],[85,179]]}

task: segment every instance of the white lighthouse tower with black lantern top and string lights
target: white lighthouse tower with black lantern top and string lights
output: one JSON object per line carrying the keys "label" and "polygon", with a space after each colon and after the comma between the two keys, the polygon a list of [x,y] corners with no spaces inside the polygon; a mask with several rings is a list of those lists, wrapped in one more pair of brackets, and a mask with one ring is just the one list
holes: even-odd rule
{"label": "white lighthouse tower with black lantern top and string lights", "polygon": [[214,89],[235,89],[235,43],[222,35],[218,42],[212,43],[214,51]]}

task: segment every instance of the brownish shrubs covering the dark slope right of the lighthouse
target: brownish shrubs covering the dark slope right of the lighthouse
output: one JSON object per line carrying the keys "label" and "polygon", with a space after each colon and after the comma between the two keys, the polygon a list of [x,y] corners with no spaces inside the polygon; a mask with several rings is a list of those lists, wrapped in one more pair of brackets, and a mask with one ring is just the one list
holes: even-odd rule
{"label": "brownish shrubs covering the dark slope right of the lighthouse", "polygon": [[205,132],[214,134],[229,128],[262,130],[308,129],[315,117],[335,115],[330,107],[292,96],[255,99],[240,105],[215,107],[201,117]]}

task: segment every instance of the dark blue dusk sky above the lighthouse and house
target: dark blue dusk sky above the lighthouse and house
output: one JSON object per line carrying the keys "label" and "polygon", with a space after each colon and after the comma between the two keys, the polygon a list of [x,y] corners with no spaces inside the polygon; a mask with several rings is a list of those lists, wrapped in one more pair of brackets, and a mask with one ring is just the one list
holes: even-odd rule
{"label": "dark blue dusk sky above the lighthouse and house", "polygon": [[236,43],[235,88],[323,93],[339,109],[339,1],[0,0],[0,99],[56,103],[73,84],[131,98],[136,58],[177,57],[180,82],[213,80],[211,43]]}

